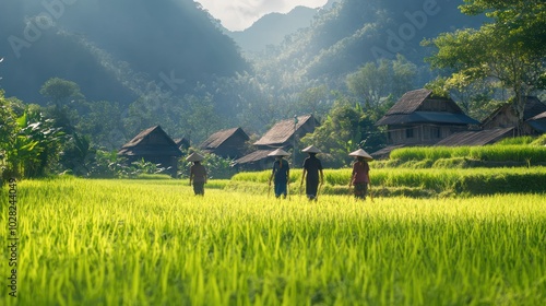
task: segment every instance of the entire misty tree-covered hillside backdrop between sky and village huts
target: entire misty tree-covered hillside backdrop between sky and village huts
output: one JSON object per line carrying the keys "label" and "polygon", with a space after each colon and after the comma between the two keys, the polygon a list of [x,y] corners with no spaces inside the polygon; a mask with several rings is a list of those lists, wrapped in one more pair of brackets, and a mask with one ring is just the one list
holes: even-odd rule
{"label": "entire misty tree-covered hillside backdrop between sky and village huts", "polygon": [[[361,129],[333,138],[339,152],[378,149],[384,141],[373,122],[406,91],[451,95],[480,119],[545,87],[543,1],[330,5],[308,27],[248,56],[191,0],[2,1],[2,118],[11,118],[2,142],[23,141],[23,131],[58,134],[39,154],[63,143],[62,156],[93,156],[159,123],[197,144],[234,127],[252,140],[280,119],[312,114],[324,127]],[[43,130],[33,130],[38,122]],[[31,144],[17,145],[38,148]]]}

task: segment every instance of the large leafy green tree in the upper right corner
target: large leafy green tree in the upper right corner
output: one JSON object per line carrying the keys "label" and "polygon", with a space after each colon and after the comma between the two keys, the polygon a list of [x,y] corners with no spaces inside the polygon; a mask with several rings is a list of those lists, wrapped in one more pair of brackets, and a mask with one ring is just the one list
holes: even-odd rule
{"label": "large leafy green tree in the upper right corner", "polygon": [[546,89],[546,3],[543,0],[465,0],[461,11],[486,13],[491,23],[424,40],[435,46],[427,58],[432,68],[453,69],[449,82],[495,78],[513,92],[513,106],[523,123],[525,96]]}

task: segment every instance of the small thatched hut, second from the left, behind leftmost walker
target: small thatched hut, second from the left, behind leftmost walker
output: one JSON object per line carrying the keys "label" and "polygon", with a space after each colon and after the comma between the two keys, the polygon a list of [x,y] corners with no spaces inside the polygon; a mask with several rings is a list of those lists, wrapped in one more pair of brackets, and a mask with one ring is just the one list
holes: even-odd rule
{"label": "small thatched hut, second from the left, behind leftmost walker", "polygon": [[200,149],[224,158],[236,158],[245,152],[245,143],[250,138],[241,128],[221,130],[200,144]]}

